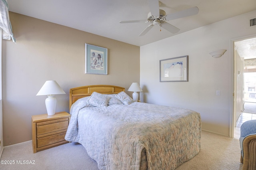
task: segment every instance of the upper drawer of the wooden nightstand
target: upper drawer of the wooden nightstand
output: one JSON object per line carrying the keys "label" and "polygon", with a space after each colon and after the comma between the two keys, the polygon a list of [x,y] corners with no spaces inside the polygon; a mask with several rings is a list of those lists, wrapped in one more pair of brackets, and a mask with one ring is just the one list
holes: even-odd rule
{"label": "upper drawer of the wooden nightstand", "polygon": [[56,132],[56,131],[67,129],[67,128],[68,128],[68,118],[60,119],[58,121],[48,121],[48,122],[44,122],[43,124],[37,123],[36,125],[37,136],[51,133],[51,132]]}

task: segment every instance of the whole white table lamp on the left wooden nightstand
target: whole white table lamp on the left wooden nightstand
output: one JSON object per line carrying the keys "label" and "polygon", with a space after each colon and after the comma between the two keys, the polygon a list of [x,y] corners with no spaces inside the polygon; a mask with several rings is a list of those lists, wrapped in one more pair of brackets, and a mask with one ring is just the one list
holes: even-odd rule
{"label": "whole white table lamp on the left wooden nightstand", "polygon": [[49,116],[55,114],[55,109],[57,105],[57,99],[54,95],[66,94],[60,85],[54,80],[48,80],[44,83],[42,88],[36,94],[37,96],[47,95],[48,97],[45,99],[45,105],[47,114]]}

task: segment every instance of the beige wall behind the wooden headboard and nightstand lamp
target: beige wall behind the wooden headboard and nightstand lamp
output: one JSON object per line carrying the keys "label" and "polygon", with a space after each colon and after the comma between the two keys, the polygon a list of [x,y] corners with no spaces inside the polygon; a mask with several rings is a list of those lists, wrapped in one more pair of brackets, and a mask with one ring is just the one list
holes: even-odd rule
{"label": "beige wall behind the wooden headboard and nightstand lamp", "polygon": [[[127,90],[140,81],[138,46],[13,12],[10,20],[17,44],[3,40],[2,46],[4,146],[32,139],[31,116],[46,113],[46,96],[36,96],[46,80],[56,80],[67,93],[56,95],[56,112],[69,111],[70,88],[106,84]],[[84,74],[84,43],[108,48],[108,75]]]}

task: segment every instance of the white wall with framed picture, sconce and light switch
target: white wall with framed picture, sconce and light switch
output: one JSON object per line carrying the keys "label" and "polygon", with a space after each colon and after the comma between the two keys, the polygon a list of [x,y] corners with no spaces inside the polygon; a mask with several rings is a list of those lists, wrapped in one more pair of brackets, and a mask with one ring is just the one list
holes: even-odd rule
{"label": "white wall with framed picture, sconce and light switch", "polygon": [[[256,34],[249,20],[256,11],[229,18],[140,47],[140,99],[147,103],[184,107],[201,114],[202,129],[230,135],[233,105],[234,38]],[[220,58],[209,55],[226,49]],[[188,82],[159,82],[159,60],[189,56]],[[220,90],[220,96],[216,96]]]}

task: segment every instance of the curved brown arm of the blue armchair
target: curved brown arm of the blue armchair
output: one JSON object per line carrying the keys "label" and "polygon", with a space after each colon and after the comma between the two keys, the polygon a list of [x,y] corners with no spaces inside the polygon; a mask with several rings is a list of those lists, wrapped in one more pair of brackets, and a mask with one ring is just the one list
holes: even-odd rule
{"label": "curved brown arm of the blue armchair", "polygon": [[243,140],[243,170],[256,169],[256,134],[248,135]]}

